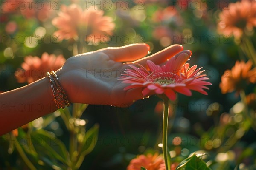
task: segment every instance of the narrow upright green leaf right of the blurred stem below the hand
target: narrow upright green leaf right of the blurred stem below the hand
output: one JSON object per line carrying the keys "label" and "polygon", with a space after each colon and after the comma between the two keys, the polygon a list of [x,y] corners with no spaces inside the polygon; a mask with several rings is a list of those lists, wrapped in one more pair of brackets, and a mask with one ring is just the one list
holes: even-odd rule
{"label": "narrow upright green leaf right of the blurred stem below the hand", "polygon": [[84,141],[81,144],[82,149],[80,151],[79,159],[75,166],[76,169],[78,169],[81,166],[81,164],[84,160],[84,156],[86,156],[88,153],[90,153],[93,150],[93,148],[95,147],[97,140],[98,140],[98,135],[99,135],[99,125],[98,124],[91,127],[85,133]]}

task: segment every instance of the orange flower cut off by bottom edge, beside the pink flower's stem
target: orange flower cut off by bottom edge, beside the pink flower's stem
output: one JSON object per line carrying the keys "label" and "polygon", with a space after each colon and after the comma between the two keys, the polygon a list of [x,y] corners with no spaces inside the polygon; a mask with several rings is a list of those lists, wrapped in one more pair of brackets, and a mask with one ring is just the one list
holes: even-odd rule
{"label": "orange flower cut off by bottom edge, beside the pink flower's stem", "polygon": [[145,167],[147,170],[165,170],[163,157],[158,156],[158,153],[137,156],[130,161],[127,170],[140,170],[140,167]]}

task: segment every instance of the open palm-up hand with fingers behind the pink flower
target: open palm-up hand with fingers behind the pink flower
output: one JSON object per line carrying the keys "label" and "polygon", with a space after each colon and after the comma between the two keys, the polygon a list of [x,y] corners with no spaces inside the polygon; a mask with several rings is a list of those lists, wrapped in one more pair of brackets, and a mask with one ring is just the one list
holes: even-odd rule
{"label": "open palm-up hand with fingers behind the pink flower", "polygon": [[144,57],[149,51],[145,43],[103,48],[70,57],[56,74],[71,103],[126,107],[143,98],[141,88],[124,91],[127,85],[118,81],[128,65],[139,63],[147,68],[148,59],[160,65],[182,50],[181,45],[172,45]]}

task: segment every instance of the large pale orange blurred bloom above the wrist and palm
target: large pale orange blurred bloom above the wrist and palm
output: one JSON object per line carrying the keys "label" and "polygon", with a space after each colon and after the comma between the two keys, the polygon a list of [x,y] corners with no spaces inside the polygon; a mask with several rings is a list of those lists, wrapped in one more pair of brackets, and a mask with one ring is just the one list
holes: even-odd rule
{"label": "large pale orange blurred bloom above the wrist and palm", "polygon": [[94,6],[84,11],[76,4],[62,6],[58,17],[52,20],[52,24],[59,29],[54,34],[59,36],[59,40],[81,37],[87,42],[99,43],[108,39],[104,36],[111,35],[115,28],[112,18],[103,14],[104,11]]}

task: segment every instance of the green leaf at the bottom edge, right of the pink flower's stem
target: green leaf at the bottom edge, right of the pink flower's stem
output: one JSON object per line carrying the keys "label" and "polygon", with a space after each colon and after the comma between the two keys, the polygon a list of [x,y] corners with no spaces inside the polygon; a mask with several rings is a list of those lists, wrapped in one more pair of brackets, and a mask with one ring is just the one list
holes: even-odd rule
{"label": "green leaf at the bottom edge, right of the pink flower's stem", "polygon": [[176,170],[211,170],[200,156],[195,154],[180,162]]}

